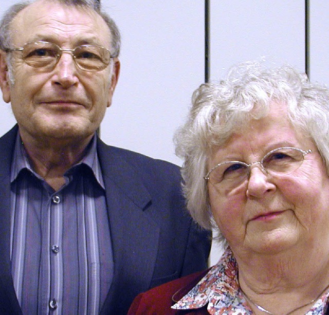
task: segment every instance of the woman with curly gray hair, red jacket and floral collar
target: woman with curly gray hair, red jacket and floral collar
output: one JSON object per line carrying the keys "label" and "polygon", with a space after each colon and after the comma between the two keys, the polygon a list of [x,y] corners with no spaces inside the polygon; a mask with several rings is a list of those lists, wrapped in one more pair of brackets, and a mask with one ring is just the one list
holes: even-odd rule
{"label": "woman with curly gray hair, red jacket and floral collar", "polygon": [[241,65],[194,92],[176,143],[188,209],[226,250],[129,313],[329,313],[329,90]]}

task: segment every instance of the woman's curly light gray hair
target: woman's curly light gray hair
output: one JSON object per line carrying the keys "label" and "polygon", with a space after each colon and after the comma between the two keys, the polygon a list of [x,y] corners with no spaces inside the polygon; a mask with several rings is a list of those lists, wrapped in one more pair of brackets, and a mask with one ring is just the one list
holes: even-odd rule
{"label": "woman's curly light gray hair", "polygon": [[273,102],[286,104],[291,124],[314,141],[329,174],[329,90],[291,66],[264,69],[245,63],[233,67],[226,80],[200,85],[186,123],[174,136],[176,154],[184,160],[187,208],[200,226],[215,228],[220,241],[225,239],[214,223],[203,178],[211,149],[243,132],[251,119],[264,117]]}

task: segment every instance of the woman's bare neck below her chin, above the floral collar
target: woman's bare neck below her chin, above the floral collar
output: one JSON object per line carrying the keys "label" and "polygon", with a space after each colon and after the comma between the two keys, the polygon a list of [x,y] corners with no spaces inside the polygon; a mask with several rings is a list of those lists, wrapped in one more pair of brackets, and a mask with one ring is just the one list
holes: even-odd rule
{"label": "woman's bare neck below her chin, above the floral collar", "polygon": [[247,264],[237,257],[239,284],[254,313],[265,314],[261,306],[275,315],[304,314],[328,290],[329,255],[322,254],[253,255]]}

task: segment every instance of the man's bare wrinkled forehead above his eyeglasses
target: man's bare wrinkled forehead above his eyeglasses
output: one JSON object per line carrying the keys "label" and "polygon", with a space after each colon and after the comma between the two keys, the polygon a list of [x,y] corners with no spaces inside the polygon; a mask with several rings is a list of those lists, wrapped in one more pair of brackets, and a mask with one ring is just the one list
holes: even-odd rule
{"label": "man's bare wrinkled forehead above his eyeglasses", "polygon": [[61,35],[65,34],[67,38],[78,41],[83,41],[84,36],[86,39],[94,38],[107,46],[111,37],[107,24],[96,11],[88,7],[61,4],[56,0],[38,0],[23,9],[15,16],[11,31],[16,44],[41,40],[40,34],[43,34],[44,40],[48,36],[60,40]]}

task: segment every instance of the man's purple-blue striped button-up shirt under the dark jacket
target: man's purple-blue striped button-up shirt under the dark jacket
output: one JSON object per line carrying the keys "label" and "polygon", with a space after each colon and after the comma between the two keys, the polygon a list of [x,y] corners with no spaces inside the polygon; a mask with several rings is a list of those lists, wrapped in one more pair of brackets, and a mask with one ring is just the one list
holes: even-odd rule
{"label": "man's purple-blue striped button-up shirt under the dark jacket", "polygon": [[24,314],[98,314],[113,256],[96,135],[54,191],[17,134],[11,166],[11,265]]}

